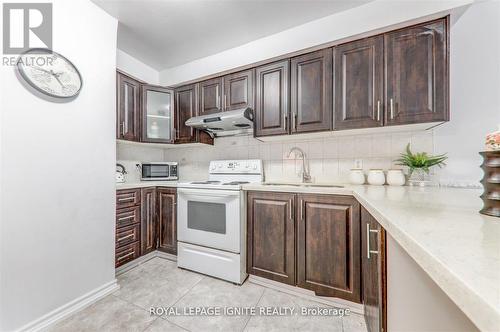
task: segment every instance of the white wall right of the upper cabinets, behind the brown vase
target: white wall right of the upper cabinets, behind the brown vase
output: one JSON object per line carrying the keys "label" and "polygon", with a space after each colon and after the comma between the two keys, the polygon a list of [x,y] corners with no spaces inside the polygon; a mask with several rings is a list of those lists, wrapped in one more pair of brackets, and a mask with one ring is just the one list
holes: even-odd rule
{"label": "white wall right of the upper cabinets, behind the brown vase", "polygon": [[448,152],[443,182],[481,179],[486,134],[500,125],[500,2],[478,2],[458,18],[450,38],[451,121],[434,131]]}

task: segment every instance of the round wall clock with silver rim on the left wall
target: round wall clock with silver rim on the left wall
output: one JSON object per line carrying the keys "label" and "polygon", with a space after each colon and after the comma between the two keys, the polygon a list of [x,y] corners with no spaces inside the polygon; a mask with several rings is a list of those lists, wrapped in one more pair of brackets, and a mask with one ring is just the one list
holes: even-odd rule
{"label": "round wall clock with silver rim on the left wall", "polygon": [[26,82],[51,97],[71,98],[82,88],[78,69],[65,57],[48,49],[31,49],[21,54],[17,68]]}

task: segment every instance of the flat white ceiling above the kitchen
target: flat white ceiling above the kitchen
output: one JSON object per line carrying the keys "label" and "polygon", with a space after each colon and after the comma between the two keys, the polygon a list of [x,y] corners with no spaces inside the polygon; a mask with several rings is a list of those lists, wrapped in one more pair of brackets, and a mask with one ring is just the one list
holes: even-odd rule
{"label": "flat white ceiling above the kitchen", "polygon": [[370,0],[92,1],[119,20],[119,49],[163,70]]}

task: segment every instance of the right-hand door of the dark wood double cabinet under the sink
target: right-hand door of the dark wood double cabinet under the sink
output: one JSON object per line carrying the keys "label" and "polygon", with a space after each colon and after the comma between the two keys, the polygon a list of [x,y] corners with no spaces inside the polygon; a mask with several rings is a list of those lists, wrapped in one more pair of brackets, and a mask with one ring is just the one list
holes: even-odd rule
{"label": "right-hand door of the dark wood double cabinet under the sink", "polygon": [[298,286],[361,302],[359,214],[353,197],[298,195]]}

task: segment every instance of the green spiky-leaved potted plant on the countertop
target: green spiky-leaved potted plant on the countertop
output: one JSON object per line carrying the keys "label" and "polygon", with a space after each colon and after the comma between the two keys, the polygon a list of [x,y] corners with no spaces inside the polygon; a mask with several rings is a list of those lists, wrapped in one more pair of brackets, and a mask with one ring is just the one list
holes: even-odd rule
{"label": "green spiky-leaved potted plant on the countertop", "polygon": [[409,183],[410,185],[423,186],[430,182],[429,171],[433,166],[440,168],[446,165],[444,161],[448,157],[446,154],[437,156],[428,155],[427,152],[413,153],[410,150],[410,144],[406,146],[406,152],[396,159],[396,165],[408,167]]}

